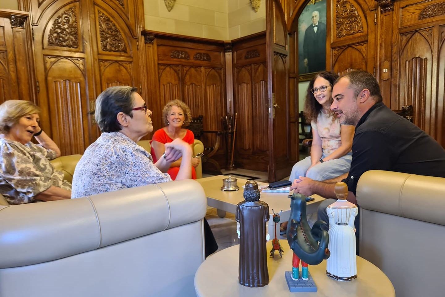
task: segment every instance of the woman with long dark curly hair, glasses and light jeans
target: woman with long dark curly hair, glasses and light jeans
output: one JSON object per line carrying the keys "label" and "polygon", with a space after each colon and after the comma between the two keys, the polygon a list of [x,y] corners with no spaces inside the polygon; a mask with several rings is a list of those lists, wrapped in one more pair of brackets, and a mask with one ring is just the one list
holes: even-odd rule
{"label": "woman with long dark curly hair, glasses and light jeans", "polygon": [[351,168],[354,126],[340,125],[331,110],[332,85],[337,77],[323,71],[309,82],[304,115],[312,126],[311,155],[292,167],[292,181],[300,176],[320,181],[332,179]]}

